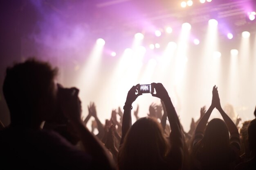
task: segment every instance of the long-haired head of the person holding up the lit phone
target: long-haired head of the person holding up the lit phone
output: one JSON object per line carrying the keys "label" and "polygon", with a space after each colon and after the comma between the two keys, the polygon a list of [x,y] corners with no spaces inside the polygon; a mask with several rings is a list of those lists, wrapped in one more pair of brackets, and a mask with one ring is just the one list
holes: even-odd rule
{"label": "long-haired head of the person holding up the lit phone", "polygon": [[140,118],[128,131],[119,152],[119,169],[159,169],[165,166],[169,144],[162,126],[153,118]]}

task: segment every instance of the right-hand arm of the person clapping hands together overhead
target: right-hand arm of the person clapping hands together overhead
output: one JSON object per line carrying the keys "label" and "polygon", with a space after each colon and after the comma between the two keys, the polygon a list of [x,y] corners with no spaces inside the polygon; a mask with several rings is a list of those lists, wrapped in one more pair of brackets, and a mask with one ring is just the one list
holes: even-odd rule
{"label": "right-hand arm of the person clapping hands together overhead", "polygon": [[218,111],[220,112],[224,122],[226,123],[227,128],[229,129],[230,135],[236,134],[239,137],[239,132],[238,132],[238,129],[236,127],[236,124],[234,124],[234,122],[231,120],[231,118],[229,118],[229,116],[227,116],[227,114],[225,113],[225,111],[223,111],[223,109],[220,105],[218,87],[216,87],[216,92],[213,95],[215,95],[215,97],[214,97],[215,107],[216,107],[216,109],[218,109]]}

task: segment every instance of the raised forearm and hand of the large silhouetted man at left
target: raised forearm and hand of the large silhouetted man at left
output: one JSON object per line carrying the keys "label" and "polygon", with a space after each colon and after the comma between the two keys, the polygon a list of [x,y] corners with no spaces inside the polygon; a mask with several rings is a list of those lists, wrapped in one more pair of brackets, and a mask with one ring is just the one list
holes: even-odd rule
{"label": "raised forearm and hand of the large silhouetted man at left", "polygon": [[[59,89],[59,91],[61,90]],[[81,101],[78,97],[79,90],[72,88],[69,91],[71,91],[69,96],[60,95],[61,109],[79,135],[85,151],[91,155],[94,166],[96,166],[95,168],[115,169],[114,163],[110,159],[105,147],[83,124],[81,119]]]}

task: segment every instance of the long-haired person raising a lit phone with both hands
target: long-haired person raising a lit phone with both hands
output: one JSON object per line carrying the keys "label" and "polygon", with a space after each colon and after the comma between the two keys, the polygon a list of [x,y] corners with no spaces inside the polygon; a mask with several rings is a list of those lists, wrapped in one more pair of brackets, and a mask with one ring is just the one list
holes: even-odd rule
{"label": "long-haired person raising a lit phone with both hands", "polygon": [[132,103],[141,93],[135,94],[139,85],[133,86],[127,94],[124,105],[122,138],[120,142],[119,170],[178,170],[183,163],[183,134],[180,121],[171,98],[161,83],[152,83],[156,94],[163,100],[171,126],[169,142],[162,126],[153,118],[140,118],[131,122]]}

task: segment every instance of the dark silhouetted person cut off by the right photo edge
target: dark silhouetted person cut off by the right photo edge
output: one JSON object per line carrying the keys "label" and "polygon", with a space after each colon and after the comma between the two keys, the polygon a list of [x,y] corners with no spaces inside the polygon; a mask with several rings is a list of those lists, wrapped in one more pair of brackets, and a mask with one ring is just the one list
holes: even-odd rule
{"label": "dark silhouetted person cut off by the right photo edge", "polygon": [[248,126],[248,142],[251,151],[249,161],[240,163],[235,170],[255,170],[256,169],[256,119],[252,120]]}

